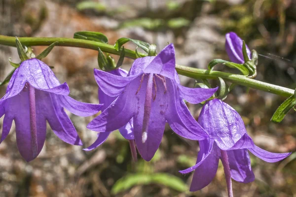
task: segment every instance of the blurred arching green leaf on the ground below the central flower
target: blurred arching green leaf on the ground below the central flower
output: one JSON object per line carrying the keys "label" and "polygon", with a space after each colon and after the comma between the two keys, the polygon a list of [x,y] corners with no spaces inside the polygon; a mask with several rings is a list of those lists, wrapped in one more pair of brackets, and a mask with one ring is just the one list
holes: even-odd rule
{"label": "blurred arching green leaf on the ground below the central flower", "polygon": [[116,195],[122,191],[131,189],[136,185],[160,184],[179,192],[187,191],[187,185],[179,177],[166,173],[154,174],[128,174],[115,182],[111,193]]}

